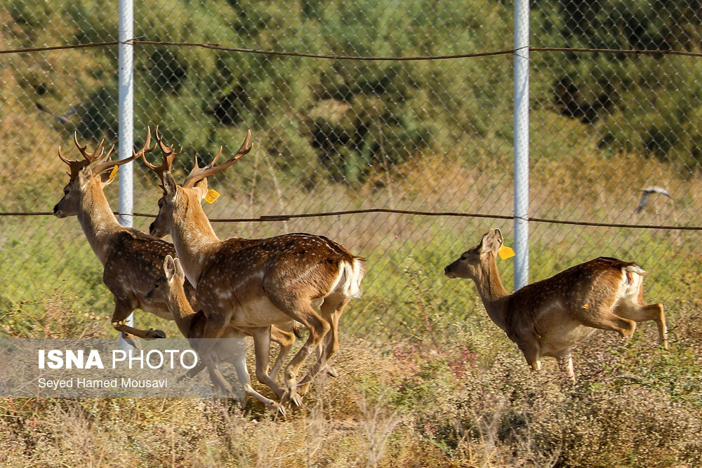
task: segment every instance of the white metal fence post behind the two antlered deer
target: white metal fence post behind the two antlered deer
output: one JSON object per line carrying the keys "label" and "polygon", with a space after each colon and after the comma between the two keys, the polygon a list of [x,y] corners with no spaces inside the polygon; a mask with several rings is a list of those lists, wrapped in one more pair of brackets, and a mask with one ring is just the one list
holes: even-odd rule
{"label": "white metal fence post behind the two antlered deer", "polygon": [[[119,0],[119,159],[131,156],[134,147],[134,47],[127,41],[134,37],[133,0]],[[121,166],[119,171],[119,224],[134,225],[133,218],[133,167],[132,163]],[[133,326],[134,314],[126,319]],[[119,336],[121,349],[131,348]]]}

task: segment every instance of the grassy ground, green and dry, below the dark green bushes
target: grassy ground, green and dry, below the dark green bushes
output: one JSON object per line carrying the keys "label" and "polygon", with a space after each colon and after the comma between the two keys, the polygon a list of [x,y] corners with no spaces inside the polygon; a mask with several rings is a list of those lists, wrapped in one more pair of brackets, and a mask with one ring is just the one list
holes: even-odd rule
{"label": "grassy ground, green and dry, below the dark green bushes", "polygon": [[[509,213],[508,178],[494,178],[508,154],[477,165],[458,153],[451,157],[453,166],[421,159],[399,168],[390,183],[380,180],[355,191],[323,184],[314,199],[305,197],[305,206],[290,209],[333,209],[329,201],[337,200],[344,207]],[[535,215],[697,222],[702,202],[692,196],[675,204],[654,201],[654,210],[635,218],[638,194],[621,191],[627,177],[644,184],[665,176],[684,194],[698,189],[696,180],[657,161],[641,160],[635,174],[608,161],[593,152],[574,157],[573,168],[564,169],[558,160],[535,156]],[[261,174],[221,190],[226,197],[206,206],[208,213],[274,214],[282,210],[281,199],[296,199],[294,185]],[[585,183],[604,176],[600,186]],[[46,182],[53,195],[37,192],[39,209],[58,201],[58,179]],[[569,187],[578,187],[577,197]],[[145,179],[140,188],[145,192],[138,210],[152,212],[152,181]],[[278,196],[264,196],[271,190]],[[117,192],[107,191],[110,197]],[[142,229],[148,222],[136,220]],[[305,408],[289,411],[284,420],[273,420],[256,401],[241,413],[226,402],[190,399],[4,399],[0,461],[17,467],[699,466],[702,252],[694,234],[532,225],[532,279],[597,255],[637,260],[650,272],[647,299],[666,306],[668,352],[656,347],[650,323],[628,342],[597,332],[576,349],[578,382],[572,384],[548,360],[543,372],[530,375],[515,345],[487,319],[472,283],[443,276],[443,267],[491,226],[501,227],[510,241],[510,222],[472,218],[378,213],[218,223],[222,237],[326,234],[367,258],[364,296],[352,302],[341,323],[342,349],[334,364],[340,376],[317,382]],[[11,220],[0,239],[2,264],[12,272],[1,293],[6,333],[114,335],[100,265],[75,219]],[[512,288],[511,262],[500,268]],[[173,323],[149,314],[138,312],[137,321],[178,333]]]}

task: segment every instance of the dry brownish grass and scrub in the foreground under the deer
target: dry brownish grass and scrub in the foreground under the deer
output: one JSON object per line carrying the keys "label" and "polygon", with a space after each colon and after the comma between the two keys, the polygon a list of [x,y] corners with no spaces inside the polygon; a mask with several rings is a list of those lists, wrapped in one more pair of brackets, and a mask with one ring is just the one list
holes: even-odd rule
{"label": "dry brownish grass and scrub in the foreground under the deer", "polygon": [[[85,467],[695,467],[702,463],[699,313],[680,309],[665,352],[654,330],[598,332],[572,384],[530,374],[489,321],[378,348],[353,337],[305,408],[257,401],[3,399],[0,462]],[[484,313],[484,312],[482,312]],[[261,389],[265,391],[264,389]]]}

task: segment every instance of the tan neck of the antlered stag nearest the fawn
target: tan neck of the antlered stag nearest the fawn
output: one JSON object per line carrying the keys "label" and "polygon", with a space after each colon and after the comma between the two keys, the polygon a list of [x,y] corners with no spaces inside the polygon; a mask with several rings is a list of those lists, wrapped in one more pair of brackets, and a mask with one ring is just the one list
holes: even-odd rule
{"label": "tan neck of the antlered stag nearest the fawn", "polygon": [[206,260],[220,243],[199,201],[185,203],[180,215],[173,217],[171,237],[185,276],[197,287]]}

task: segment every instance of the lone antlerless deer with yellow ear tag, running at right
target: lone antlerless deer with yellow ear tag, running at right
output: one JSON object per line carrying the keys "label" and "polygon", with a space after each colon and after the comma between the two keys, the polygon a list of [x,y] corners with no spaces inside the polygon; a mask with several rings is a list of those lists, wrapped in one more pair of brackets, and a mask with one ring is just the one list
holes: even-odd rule
{"label": "lone antlerless deer with yellow ear tag, running at right", "polygon": [[644,303],[646,272],[634,263],[595,258],[508,294],[497,271],[502,246],[500,229],[490,229],[444,273],[475,281],[490,319],[517,343],[531,370],[541,368],[541,356],[551,356],[575,380],[571,347],[595,328],[630,337],[637,322],[652,320],[668,349],[663,305]]}

